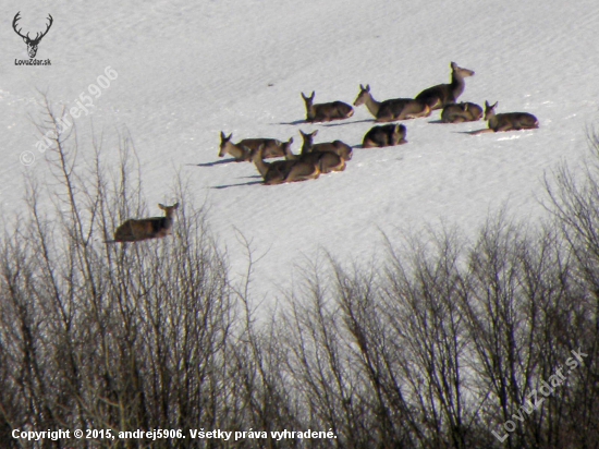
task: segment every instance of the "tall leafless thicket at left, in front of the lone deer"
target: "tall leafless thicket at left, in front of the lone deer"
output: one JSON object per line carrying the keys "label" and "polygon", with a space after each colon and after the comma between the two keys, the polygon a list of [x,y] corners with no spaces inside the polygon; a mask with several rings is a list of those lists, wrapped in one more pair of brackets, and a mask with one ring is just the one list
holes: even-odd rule
{"label": "tall leafless thicket at left, in front of the lone deer", "polygon": [[93,161],[77,159],[81,146],[47,108],[58,187],[32,184],[27,219],[0,248],[2,440],[17,445],[10,428],[228,426],[236,308],[204,211],[179,182],[172,238],[107,245],[146,209],[139,179],[130,180],[131,139],[121,137],[121,165],[108,171],[106,148],[94,142]]}

